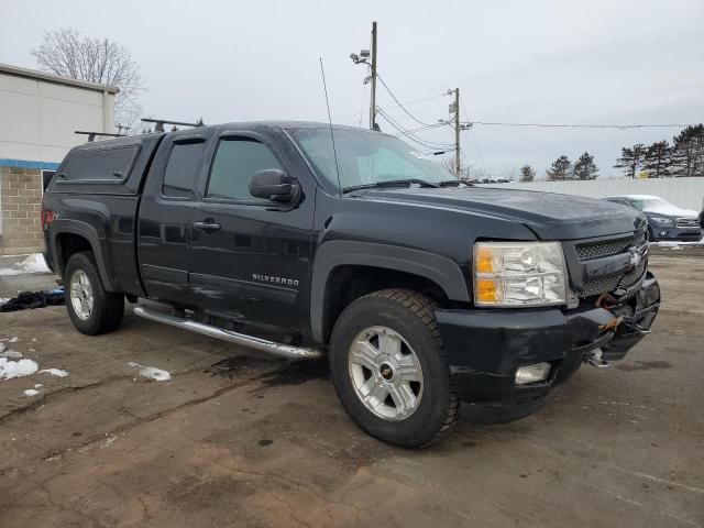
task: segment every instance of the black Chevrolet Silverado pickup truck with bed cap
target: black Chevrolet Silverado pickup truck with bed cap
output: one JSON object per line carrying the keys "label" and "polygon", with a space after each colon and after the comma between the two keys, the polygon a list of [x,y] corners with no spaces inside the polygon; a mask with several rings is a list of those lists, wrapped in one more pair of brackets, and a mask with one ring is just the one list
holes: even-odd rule
{"label": "black Chevrolet Silverado pickup truck with bed cap", "polygon": [[352,419],[418,447],[510,421],[608,365],[660,305],[642,213],[471,186],[393,136],[302,122],[88,143],[45,195],[47,262],[84,333],[133,314],[329,356]]}

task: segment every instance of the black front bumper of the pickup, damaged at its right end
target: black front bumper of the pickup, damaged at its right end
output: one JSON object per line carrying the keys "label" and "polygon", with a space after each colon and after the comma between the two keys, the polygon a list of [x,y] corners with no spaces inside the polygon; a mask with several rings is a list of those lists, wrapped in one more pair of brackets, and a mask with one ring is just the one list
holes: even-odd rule
{"label": "black front bumper of the pickup, damaged at its right end", "polygon": [[[437,310],[453,386],[472,403],[524,403],[548,395],[565,382],[587,354],[623,359],[649,333],[660,307],[660,287],[648,272],[640,287],[608,309],[583,301],[573,310]],[[519,366],[550,363],[544,382],[516,385]]]}

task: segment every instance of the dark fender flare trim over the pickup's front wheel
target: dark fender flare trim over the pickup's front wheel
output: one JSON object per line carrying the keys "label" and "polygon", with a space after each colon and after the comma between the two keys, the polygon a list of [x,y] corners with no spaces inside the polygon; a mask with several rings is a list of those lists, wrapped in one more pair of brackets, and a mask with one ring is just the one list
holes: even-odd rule
{"label": "dark fender flare trim over the pickup's front wheel", "polygon": [[336,267],[361,265],[410,273],[432,280],[449,299],[470,302],[466,279],[457,262],[436,253],[374,242],[336,240],[316,252],[310,288],[310,329],[316,341],[324,341],[328,277]]}

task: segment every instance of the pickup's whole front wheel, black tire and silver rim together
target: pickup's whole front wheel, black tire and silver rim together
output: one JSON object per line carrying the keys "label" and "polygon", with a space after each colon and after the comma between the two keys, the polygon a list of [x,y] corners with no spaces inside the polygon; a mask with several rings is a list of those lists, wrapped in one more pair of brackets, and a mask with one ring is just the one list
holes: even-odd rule
{"label": "pickup's whole front wheel, black tire and silver rim together", "polygon": [[349,305],[332,331],[342,405],[361,429],[395,446],[432,443],[459,417],[433,309],[416,292],[386,289]]}

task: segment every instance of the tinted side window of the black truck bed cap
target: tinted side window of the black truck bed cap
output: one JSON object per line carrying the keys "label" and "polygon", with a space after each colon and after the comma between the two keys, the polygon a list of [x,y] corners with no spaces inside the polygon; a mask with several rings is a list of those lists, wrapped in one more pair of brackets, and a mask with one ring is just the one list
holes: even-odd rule
{"label": "tinted side window of the black truck bed cap", "polygon": [[113,148],[84,148],[66,160],[59,177],[62,182],[122,182],[130,174],[138,155],[138,145]]}

